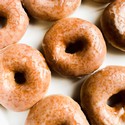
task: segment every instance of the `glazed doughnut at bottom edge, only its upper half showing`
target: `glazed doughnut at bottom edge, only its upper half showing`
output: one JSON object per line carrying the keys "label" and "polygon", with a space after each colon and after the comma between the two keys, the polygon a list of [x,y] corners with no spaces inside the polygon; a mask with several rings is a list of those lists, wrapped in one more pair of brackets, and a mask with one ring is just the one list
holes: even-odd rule
{"label": "glazed doughnut at bottom edge, only its upper half showing", "polygon": [[73,99],[51,95],[31,108],[25,125],[89,125],[89,123]]}

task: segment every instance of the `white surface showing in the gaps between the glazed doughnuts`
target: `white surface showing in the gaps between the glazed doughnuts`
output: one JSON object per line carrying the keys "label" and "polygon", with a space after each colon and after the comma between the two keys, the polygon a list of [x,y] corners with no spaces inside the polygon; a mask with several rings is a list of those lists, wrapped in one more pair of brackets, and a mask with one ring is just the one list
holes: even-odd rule
{"label": "white surface showing in the gaps between the glazed doughnuts", "polygon": [[[78,17],[84,20],[88,20],[96,25],[99,24],[99,18],[105,5],[98,4],[96,2],[84,1],[81,6],[75,11],[71,17]],[[42,39],[45,32],[52,25],[48,22],[40,22],[31,20],[30,25],[21,39],[21,43],[28,44],[34,48],[40,49]],[[108,53],[102,67],[106,65],[124,65],[125,53],[114,49],[108,45]],[[52,73],[52,81],[49,87],[47,95],[50,94],[64,94],[68,95],[76,100],[79,100],[80,86],[83,79],[68,79],[59,76],[56,73]],[[27,117],[27,112],[16,113],[0,107],[0,125],[24,125]]]}

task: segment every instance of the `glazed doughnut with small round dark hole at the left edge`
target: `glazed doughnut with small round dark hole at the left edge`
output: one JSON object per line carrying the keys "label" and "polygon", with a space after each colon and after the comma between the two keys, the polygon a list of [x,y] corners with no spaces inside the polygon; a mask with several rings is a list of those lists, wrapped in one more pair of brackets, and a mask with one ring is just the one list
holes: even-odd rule
{"label": "glazed doughnut with small round dark hole at the left edge", "polygon": [[44,97],[50,70],[42,54],[25,44],[9,45],[0,54],[0,104],[25,111]]}

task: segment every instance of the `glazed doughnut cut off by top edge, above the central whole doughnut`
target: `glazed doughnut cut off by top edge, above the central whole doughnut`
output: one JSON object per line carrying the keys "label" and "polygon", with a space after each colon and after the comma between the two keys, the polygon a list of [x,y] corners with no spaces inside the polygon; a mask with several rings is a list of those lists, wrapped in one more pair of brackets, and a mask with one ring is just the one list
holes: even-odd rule
{"label": "glazed doughnut cut off by top edge, above the central whole doughnut", "polygon": [[55,21],[72,14],[81,0],[22,0],[22,3],[32,17]]}

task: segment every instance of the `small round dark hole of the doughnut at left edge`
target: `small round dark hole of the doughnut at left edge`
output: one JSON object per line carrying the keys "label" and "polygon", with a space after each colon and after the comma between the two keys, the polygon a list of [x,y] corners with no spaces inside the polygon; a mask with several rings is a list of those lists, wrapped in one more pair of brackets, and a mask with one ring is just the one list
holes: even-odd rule
{"label": "small round dark hole of the doughnut at left edge", "polygon": [[14,73],[14,79],[17,84],[24,84],[26,82],[25,72],[16,71]]}

